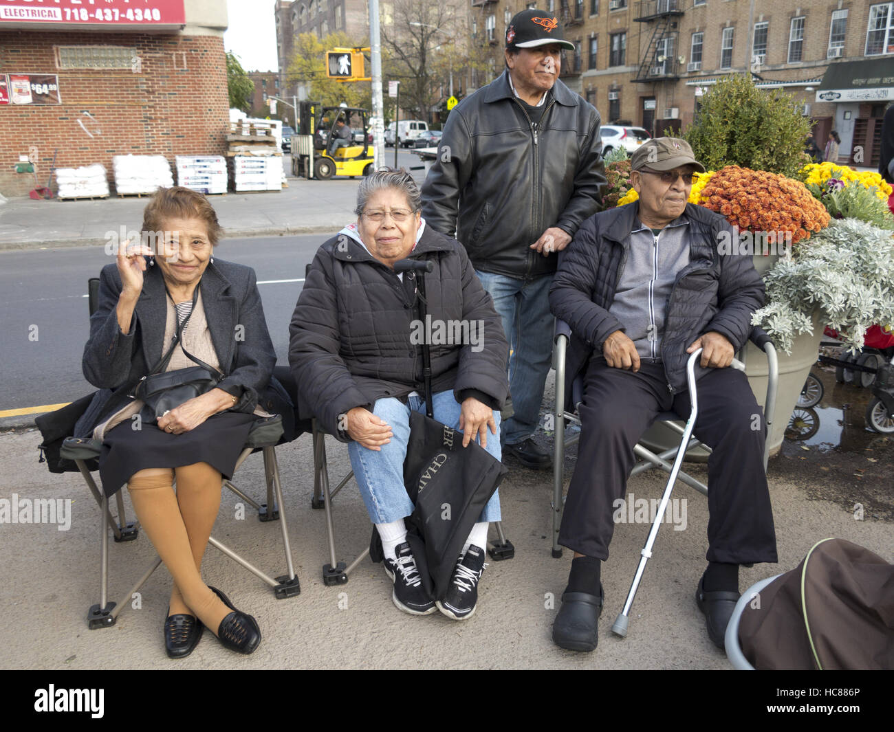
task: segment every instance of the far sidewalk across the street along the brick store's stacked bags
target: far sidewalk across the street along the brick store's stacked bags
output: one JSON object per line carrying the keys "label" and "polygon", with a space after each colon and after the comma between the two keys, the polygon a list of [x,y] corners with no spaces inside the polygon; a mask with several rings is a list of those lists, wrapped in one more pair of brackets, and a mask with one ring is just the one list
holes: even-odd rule
{"label": "far sidewalk across the street along the brick store's stacked bags", "polygon": [[[356,219],[359,180],[289,179],[282,191],[209,196],[229,237],[337,231]],[[108,231],[138,230],[148,197],[9,198],[0,204],[0,249],[105,244]]]}

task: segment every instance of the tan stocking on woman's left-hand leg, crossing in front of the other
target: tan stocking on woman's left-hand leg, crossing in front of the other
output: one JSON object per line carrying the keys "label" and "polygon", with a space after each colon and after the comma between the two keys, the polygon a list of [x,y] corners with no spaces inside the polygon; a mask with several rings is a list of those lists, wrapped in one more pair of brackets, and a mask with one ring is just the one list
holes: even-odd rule
{"label": "tan stocking on woman's left-hand leg, crossing in front of the other", "polygon": [[215,635],[230,609],[208,589],[198,574],[190,548],[190,537],[183,524],[177,497],[173,492],[170,468],[148,468],[131,476],[133,510],[149,540],[173,576],[187,606]]}

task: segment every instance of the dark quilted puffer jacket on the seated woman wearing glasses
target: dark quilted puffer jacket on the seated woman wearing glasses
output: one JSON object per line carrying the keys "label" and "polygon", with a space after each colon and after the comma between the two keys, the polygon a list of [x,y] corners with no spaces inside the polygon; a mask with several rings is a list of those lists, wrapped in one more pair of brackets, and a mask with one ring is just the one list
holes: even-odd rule
{"label": "dark quilted puffer jacket on the seated woman wearing glasses", "polygon": [[[460,402],[474,396],[502,408],[509,391],[509,345],[466,252],[426,226],[410,258],[434,263],[425,275],[433,323],[480,321],[484,329],[474,344],[431,346],[432,391],[452,389]],[[289,364],[303,401],[299,409],[308,409],[342,442],[348,436],[338,430],[339,416],[349,409],[424,393],[422,348],[413,337],[414,292],[410,273],[401,283],[348,237],[334,237],[316,252],[291,319]]]}

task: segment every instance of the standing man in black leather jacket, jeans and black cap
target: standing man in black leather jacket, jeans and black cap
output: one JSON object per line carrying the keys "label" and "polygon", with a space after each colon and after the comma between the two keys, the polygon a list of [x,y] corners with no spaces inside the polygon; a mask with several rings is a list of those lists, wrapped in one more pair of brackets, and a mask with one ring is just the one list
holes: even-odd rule
{"label": "standing man in black leather jacket, jeans and black cap", "polygon": [[552,13],[512,19],[506,70],[452,110],[422,187],[426,223],[466,248],[510,341],[504,450],[538,469],[552,467],[532,439],[552,360],[552,274],[605,183],[599,113],[559,80],[561,49],[574,50],[561,34]]}

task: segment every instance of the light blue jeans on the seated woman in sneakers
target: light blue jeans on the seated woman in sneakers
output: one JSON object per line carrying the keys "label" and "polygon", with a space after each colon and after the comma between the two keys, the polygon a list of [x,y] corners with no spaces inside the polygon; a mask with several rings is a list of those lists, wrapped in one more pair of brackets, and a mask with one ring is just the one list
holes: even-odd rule
{"label": "light blue jeans on the seated woman in sneakers", "polygon": [[[455,430],[460,429],[460,405],[452,391],[438,391],[433,394],[432,406],[435,419]],[[394,398],[376,400],[373,414],[391,425],[391,442],[382,445],[382,450],[369,450],[353,440],[348,443],[350,467],[354,468],[360,495],[367,504],[369,517],[374,524],[390,524],[413,512],[413,503],[403,484],[403,459],[407,456],[410,409],[425,414],[425,399],[410,397],[409,407]],[[485,450],[499,460],[500,412],[493,412],[493,421],[497,425],[497,433],[491,434],[488,429]],[[478,520],[500,520],[500,497],[496,492],[487,501]]]}

